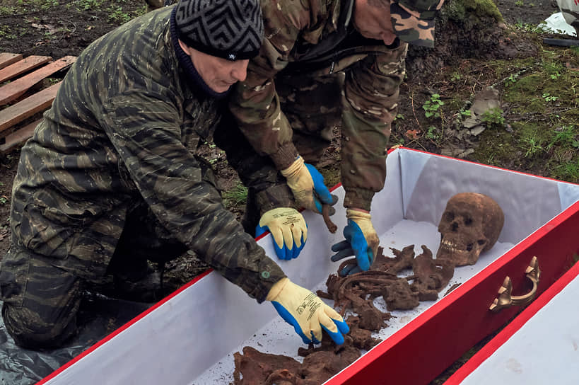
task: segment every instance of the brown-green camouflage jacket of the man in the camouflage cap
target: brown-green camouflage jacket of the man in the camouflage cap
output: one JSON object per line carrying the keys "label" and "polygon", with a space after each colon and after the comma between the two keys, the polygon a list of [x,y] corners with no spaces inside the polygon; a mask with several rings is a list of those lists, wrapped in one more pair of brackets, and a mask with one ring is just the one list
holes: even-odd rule
{"label": "brown-green camouflage jacket of the man in the camouflage cap", "polygon": [[[274,79],[304,59],[312,76],[346,70],[342,92],[341,178],[345,207],[370,209],[374,193],[384,187],[386,146],[396,115],[398,87],[404,79],[407,44],[387,47],[381,40],[326,52],[324,60],[309,53],[337,33],[355,33],[348,1],[262,0],[265,39],[252,59],[247,79],[230,98],[230,109],[240,128],[261,154],[271,156],[277,168],[289,166],[297,155],[292,131],[279,107]],[[351,7],[351,2],[350,2]],[[324,56],[322,54],[321,56]],[[288,64],[290,64],[288,66]]]}

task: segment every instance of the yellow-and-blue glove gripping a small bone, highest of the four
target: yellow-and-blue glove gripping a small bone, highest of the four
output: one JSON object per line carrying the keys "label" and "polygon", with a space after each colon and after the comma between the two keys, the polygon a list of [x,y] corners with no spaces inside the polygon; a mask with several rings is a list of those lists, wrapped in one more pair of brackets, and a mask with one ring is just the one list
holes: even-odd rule
{"label": "yellow-and-blue glove gripping a small bone, highest of the four", "polygon": [[[324,177],[314,166],[304,163],[303,158],[291,163],[291,166],[280,171],[286,177],[289,188],[298,205],[322,214],[322,204],[334,205],[338,198],[329,193],[324,185]],[[332,207],[330,215],[336,210]]]}

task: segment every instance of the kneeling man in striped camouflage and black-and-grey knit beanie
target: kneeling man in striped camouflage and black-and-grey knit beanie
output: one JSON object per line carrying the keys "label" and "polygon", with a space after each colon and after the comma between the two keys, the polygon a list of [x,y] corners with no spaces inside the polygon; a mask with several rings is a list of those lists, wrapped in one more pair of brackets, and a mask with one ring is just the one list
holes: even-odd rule
{"label": "kneeling man in striped camouflage and black-and-grey knit beanie", "polygon": [[[232,35],[215,38],[211,23],[227,24]],[[100,283],[107,272],[139,279],[147,260],[187,249],[258,302],[279,309],[309,296],[304,316],[317,319],[323,311],[343,322],[291,283],[243,231],[223,207],[209,162],[195,154],[215,135],[241,178],[263,193],[264,205],[290,204],[287,188],[287,202],[279,198],[277,171],[252,166],[269,159],[236,137],[221,112],[262,35],[255,0],[182,0],[122,25],[80,54],[23,147],[13,183],[0,298],[18,345],[62,345],[76,333],[87,283]],[[290,321],[303,326],[299,315]],[[320,325],[339,334],[324,321],[311,333],[300,330],[321,339]]]}

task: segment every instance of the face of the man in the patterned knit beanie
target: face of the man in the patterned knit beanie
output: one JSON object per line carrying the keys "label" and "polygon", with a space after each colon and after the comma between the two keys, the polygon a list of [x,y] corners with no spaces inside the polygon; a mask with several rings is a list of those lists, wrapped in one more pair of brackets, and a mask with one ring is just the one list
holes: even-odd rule
{"label": "face of the man in the patterned knit beanie", "polygon": [[238,81],[244,81],[247,76],[249,59],[230,61],[221,57],[211,56],[195,50],[179,40],[183,51],[191,58],[195,69],[213,91],[225,92]]}

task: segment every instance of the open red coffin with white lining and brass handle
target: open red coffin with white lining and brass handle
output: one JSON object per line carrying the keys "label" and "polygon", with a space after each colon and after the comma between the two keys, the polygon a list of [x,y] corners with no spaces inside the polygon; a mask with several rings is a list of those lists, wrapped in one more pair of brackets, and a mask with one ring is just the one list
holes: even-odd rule
{"label": "open red coffin with white lining and brass handle", "polygon": [[[385,335],[378,335],[382,343],[326,384],[428,384],[520,311],[521,306],[489,309],[505,277],[512,281],[513,296],[523,296],[533,287],[527,270],[536,257],[539,295],[579,253],[579,185],[409,149],[392,151],[387,170],[385,188],[375,195],[371,210],[385,252],[414,244],[418,254],[425,244],[436,253],[438,222],[456,193],[491,196],[505,213],[505,225],[496,245],[475,265],[455,270],[450,284],[459,287],[419,310],[395,314],[380,332]],[[343,200],[343,188],[334,194]],[[342,229],[345,209],[341,202],[336,207],[332,219]],[[308,243],[296,260],[279,265],[298,285],[324,289],[338,265],[329,260],[330,246],[343,237],[341,230],[330,234],[320,215],[304,212],[304,217]],[[269,234],[258,242],[276,259]],[[257,304],[208,272],[42,384],[228,384],[233,353],[246,345],[297,357],[302,343],[271,304]]]}

